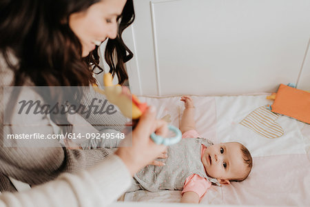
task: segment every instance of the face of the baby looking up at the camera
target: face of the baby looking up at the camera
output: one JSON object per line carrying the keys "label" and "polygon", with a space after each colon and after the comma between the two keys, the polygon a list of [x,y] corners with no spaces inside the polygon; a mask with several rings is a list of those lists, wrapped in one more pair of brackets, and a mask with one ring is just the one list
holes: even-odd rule
{"label": "face of the baby looking up at the camera", "polygon": [[[203,166],[209,177],[219,181],[240,179],[247,174],[247,165],[242,158],[241,145],[237,142],[215,144],[203,154]],[[225,183],[225,182],[223,182]]]}

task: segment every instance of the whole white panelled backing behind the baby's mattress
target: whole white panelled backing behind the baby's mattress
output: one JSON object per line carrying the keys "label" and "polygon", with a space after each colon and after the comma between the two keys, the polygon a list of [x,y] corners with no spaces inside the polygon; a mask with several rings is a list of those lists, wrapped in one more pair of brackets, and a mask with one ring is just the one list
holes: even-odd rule
{"label": "whole white panelled backing behind the baby's mattress", "polygon": [[310,90],[309,0],[134,0],[123,38],[136,95]]}

